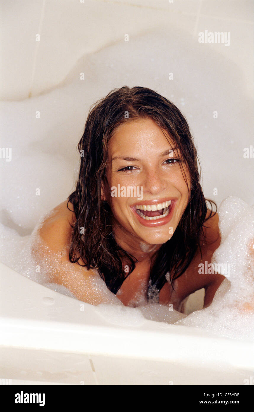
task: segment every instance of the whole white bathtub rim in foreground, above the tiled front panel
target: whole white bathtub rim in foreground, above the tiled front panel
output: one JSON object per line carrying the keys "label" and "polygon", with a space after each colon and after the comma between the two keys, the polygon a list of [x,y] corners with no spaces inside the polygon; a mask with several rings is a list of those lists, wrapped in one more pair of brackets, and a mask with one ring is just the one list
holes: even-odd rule
{"label": "whole white bathtub rim in foreground, above the tiled front panel", "polygon": [[[123,327],[103,318],[98,307],[31,282],[3,264],[0,269],[2,346],[254,368],[252,342],[146,318]],[[45,306],[45,297],[54,304]]]}

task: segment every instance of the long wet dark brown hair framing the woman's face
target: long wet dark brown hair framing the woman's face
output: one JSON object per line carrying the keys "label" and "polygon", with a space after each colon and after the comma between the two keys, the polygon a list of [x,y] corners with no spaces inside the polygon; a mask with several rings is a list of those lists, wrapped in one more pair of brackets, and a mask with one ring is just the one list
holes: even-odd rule
{"label": "long wet dark brown hair framing the woman's face", "polygon": [[[81,159],[79,178],[76,190],[68,198],[68,204],[72,204],[76,215],[69,259],[82,265],[81,258],[87,269],[96,268],[113,293],[117,293],[124,279],[134,270],[137,260],[114,238],[112,212],[107,201],[101,199],[101,187],[106,173],[108,142],[114,129],[122,123],[145,118],[154,120],[176,143],[191,176],[189,203],[182,218],[172,238],[161,245],[151,261],[147,297],[158,297],[158,291],[166,280],[169,279],[173,286],[175,279],[189,266],[197,248],[201,252],[203,224],[213,212],[211,208],[206,218],[207,205],[200,186],[199,161],[185,117],[173,103],[151,89],[130,89],[127,86],[113,89],[89,112],[78,144]],[[186,176],[184,178],[187,184]],[[211,206],[212,203],[216,206],[213,201],[208,201]],[[124,271],[125,265],[129,266],[128,273]]]}

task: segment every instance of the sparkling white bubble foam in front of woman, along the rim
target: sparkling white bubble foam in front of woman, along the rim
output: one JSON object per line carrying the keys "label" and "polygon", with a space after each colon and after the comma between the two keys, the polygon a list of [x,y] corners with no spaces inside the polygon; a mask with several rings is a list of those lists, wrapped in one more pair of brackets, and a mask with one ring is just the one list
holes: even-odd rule
{"label": "sparkling white bubble foam in front of woman, along the rim", "polygon": [[[135,296],[135,302],[130,302],[130,307],[125,307],[107,289],[96,271],[94,276],[91,276],[90,283],[86,285],[87,296],[83,296],[84,302],[98,305],[95,309],[97,313],[117,325],[135,327],[142,325],[147,318],[152,321],[202,328],[212,334],[233,339],[253,339],[253,206],[248,206],[236,197],[228,197],[221,203],[218,214],[221,244],[212,256],[212,263],[227,263],[231,271],[230,276],[221,283],[208,308],[186,315],[152,300],[145,304],[143,294],[140,298],[138,295]],[[46,216],[49,215],[50,213]],[[44,218],[30,236],[19,236],[14,229],[2,225],[0,260],[29,279],[77,299],[66,286],[54,282],[54,271],[58,270],[59,256],[51,253],[49,259],[49,254],[45,250],[47,245],[38,235]],[[40,272],[36,271],[38,261],[32,254],[35,244],[41,251]],[[43,256],[47,258],[44,259]],[[68,277],[68,266],[65,267],[65,276]],[[73,271],[70,272],[70,276],[73,276]],[[97,293],[94,300],[89,300],[91,288]],[[77,290],[76,295],[78,292]],[[96,297],[103,297],[104,303],[98,304]]]}

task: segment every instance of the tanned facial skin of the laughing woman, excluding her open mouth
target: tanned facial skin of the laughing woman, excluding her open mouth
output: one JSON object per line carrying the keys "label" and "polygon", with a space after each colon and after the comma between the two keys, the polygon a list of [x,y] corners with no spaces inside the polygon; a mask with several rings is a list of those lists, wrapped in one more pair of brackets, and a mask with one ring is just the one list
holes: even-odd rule
{"label": "tanned facial skin of the laughing woman, excluding her open mouth", "polygon": [[[170,139],[169,139],[170,140]],[[167,164],[167,159],[181,158],[178,150],[175,156],[161,153],[173,147],[161,129],[151,119],[142,119],[121,124],[110,139],[108,152],[110,164],[107,167],[107,183],[104,185],[103,198],[108,201],[113,211],[117,228],[115,236],[119,244],[136,256],[139,253],[140,241],[148,245],[157,244],[158,247],[170,238],[169,226],[175,231],[179,220],[188,204],[188,187],[184,180],[179,163]],[[138,161],[126,161],[115,157],[137,158]],[[114,159],[114,160],[112,160]],[[182,164],[184,174],[190,181],[186,165]],[[119,171],[124,167],[132,170]],[[121,186],[143,187],[143,199],[137,200],[128,197],[112,197],[110,188]],[[190,183],[189,183],[190,185]],[[176,197],[175,213],[169,225],[158,227],[144,227],[132,213],[130,205],[135,201],[142,201]]]}

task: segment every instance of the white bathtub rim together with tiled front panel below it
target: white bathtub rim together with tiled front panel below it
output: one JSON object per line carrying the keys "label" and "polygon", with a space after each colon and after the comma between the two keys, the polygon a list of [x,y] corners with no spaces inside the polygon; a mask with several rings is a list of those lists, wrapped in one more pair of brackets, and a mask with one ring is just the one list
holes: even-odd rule
{"label": "white bathtub rim together with tiled front panel below it", "polygon": [[142,317],[122,326],[2,263],[0,276],[0,378],[12,385],[244,385],[253,375],[252,342]]}

